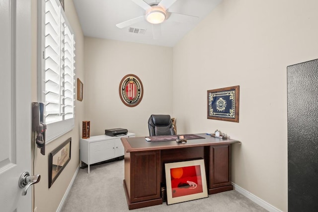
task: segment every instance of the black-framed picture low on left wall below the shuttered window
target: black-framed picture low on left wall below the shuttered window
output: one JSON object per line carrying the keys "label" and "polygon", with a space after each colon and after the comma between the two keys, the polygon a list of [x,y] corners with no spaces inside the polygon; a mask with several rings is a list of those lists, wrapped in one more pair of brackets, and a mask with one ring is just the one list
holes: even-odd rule
{"label": "black-framed picture low on left wall below the shuttered window", "polygon": [[49,155],[49,188],[71,160],[72,138],[64,141]]}

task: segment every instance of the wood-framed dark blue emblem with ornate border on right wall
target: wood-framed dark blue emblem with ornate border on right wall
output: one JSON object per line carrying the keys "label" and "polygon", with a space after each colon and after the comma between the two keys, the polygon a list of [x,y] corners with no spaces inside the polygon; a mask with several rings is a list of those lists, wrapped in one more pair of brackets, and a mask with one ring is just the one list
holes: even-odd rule
{"label": "wood-framed dark blue emblem with ornate border on right wall", "polygon": [[239,122],[239,85],[207,91],[208,119]]}

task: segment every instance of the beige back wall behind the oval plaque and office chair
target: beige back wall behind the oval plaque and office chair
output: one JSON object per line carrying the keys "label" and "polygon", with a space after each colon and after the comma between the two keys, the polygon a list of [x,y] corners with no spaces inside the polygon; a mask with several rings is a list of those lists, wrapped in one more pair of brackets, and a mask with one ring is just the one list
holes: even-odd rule
{"label": "beige back wall behind the oval plaque and office chair", "polygon": [[[151,114],[172,116],[172,48],[85,37],[85,119],[91,136],[105,129],[125,128],[136,136],[148,136]],[[144,96],[136,107],[119,97],[126,74],[137,75]]]}

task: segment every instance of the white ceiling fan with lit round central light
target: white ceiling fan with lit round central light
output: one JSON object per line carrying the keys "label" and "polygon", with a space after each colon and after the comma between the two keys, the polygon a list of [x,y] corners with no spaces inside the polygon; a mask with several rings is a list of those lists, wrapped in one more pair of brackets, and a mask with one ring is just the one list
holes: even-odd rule
{"label": "white ceiling fan with lit round central light", "polygon": [[146,10],[145,15],[126,20],[124,22],[116,24],[118,28],[125,28],[135,23],[148,21],[153,25],[153,36],[154,39],[158,39],[161,35],[161,23],[165,20],[173,20],[178,22],[184,22],[189,19],[198,18],[197,16],[185,15],[167,11],[168,8],[177,0],[161,0],[160,2],[153,2],[148,4],[144,0],[132,0],[137,5]]}

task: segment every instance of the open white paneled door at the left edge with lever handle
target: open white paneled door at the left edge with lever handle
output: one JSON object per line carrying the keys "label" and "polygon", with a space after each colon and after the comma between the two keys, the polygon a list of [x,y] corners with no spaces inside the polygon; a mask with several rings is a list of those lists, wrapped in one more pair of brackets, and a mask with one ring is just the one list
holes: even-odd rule
{"label": "open white paneled door at the left edge with lever handle", "polygon": [[18,181],[31,172],[30,0],[0,0],[0,211],[31,212],[31,190]]}

